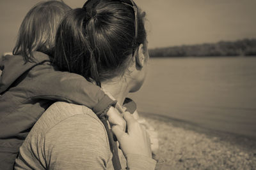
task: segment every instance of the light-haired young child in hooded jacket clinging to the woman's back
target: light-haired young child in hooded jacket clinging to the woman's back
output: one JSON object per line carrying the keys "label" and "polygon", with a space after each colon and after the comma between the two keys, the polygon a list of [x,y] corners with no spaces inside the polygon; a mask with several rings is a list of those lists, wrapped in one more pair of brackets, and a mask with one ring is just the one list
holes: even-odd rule
{"label": "light-haired young child in hooded jacket clinging to the woman's back", "polygon": [[0,169],[13,169],[29,131],[56,101],[92,108],[99,117],[108,115],[111,124],[125,129],[125,120],[111,108],[116,101],[100,87],[51,65],[56,31],[70,9],[59,1],[36,4],[20,25],[13,55],[0,61]]}

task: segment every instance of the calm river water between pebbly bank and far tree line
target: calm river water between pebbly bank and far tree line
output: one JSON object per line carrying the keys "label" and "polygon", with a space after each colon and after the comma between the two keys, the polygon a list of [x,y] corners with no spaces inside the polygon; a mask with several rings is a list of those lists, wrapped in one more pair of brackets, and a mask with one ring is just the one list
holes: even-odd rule
{"label": "calm river water between pebbly bank and far tree line", "polygon": [[138,111],[256,138],[256,57],[152,58]]}

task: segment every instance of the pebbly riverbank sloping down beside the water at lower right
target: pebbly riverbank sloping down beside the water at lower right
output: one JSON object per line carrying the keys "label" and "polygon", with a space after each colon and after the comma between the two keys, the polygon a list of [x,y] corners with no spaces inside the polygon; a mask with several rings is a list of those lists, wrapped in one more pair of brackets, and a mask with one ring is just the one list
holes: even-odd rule
{"label": "pebbly riverbank sloping down beside the water at lower right", "polygon": [[163,169],[256,169],[256,139],[142,113],[159,135]]}

